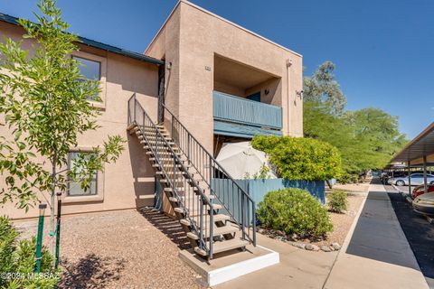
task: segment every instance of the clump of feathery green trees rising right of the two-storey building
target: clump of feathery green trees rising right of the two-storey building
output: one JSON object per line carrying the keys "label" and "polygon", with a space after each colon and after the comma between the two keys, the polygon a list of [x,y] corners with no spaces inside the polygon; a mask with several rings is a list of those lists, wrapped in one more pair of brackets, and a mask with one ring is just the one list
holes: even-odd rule
{"label": "clump of feathery green trees rising right of the two-storey building", "polygon": [[382,168],[407,142],[398,118],[372,107],[345,111],[346,98],[334,70],[326,61],[304,79],[305,136],[333,144],[347,174]]}

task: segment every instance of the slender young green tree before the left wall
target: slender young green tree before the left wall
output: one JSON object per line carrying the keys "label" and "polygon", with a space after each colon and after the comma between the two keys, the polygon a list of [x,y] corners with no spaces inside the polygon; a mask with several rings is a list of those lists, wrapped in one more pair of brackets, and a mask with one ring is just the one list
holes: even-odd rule
{"label": "slender young green tree before the left wall", "polygon": [[80,154],[73,170],[64,170],[79,135],[99,127],[99,109],[89,101],[100,101],[99,83],[80,75],[78,61],[71,58],[78,51],[78,38],[66,33],[69,25],[55,1],[41,0],[38,7],[38,23],[19,20],[24,38],[35,42],[32,52],[24,50],[22,42],[0,43],[0,114],[12,132],[0,139],[0,172],[5,177],[0,192],[4,203],[16,201],[26,210],[38,200],[38,191],[50,194],[54,231],[55,193],[77,180],[88,189],[92,175],[102,171],[103,163],[117,160],[125,141],[108,136],[91,154]]}

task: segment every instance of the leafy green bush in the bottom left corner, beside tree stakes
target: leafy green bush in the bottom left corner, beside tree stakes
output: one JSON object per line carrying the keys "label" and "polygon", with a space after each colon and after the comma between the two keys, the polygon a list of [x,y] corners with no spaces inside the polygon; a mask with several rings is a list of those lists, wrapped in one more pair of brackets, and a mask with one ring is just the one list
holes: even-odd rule
{"label": "leafy green bush in the bottom left corner, beside tree stakes", "polygon": [[[36,238],[18,240],[19,233],[9,219],[0,217],[0,288],[56,288],[59,275],[52,269],[52,256],[42,249],[41,274],[33,275]],[[7,278],[7,274],[14,278]],[[17,278],[17,274],[24,278]]]}

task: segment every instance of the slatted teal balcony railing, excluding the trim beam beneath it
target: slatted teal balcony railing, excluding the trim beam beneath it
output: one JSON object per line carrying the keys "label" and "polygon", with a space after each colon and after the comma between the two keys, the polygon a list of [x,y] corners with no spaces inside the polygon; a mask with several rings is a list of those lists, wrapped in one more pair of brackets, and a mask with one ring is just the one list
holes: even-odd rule
{"label": "slatted teal balcony railing, excluding the trim beam beneath it", "polygon": [[212,93],[214,119],[280,130],[282,107],[234,97],[219,91]]}

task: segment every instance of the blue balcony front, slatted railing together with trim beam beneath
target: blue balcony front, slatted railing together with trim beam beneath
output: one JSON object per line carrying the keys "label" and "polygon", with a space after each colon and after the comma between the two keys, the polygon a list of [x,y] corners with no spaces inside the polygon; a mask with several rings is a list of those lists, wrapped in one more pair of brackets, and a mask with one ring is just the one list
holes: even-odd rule
{"label": "blue balcony front, slatted railing together with trim beam beneath", "polygon": [[281,135],[282,108],[213,91],[214,134]]}

